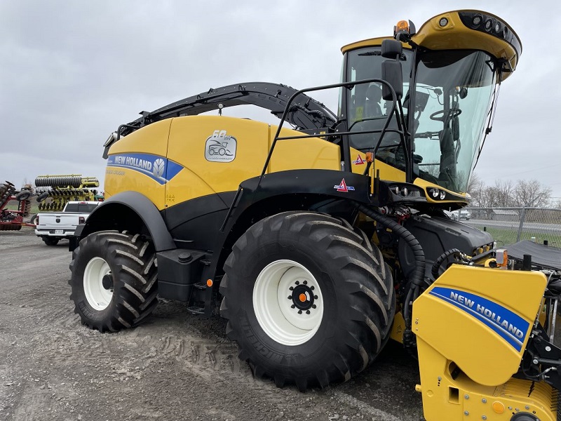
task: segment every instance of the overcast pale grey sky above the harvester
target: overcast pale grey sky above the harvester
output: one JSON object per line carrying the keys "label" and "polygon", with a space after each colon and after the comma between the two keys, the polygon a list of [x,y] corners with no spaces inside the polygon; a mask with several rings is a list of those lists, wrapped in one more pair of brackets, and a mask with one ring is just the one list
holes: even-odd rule
{"label": "overcast pale grey sky above the harvester", "polygon": [[[460,8],[499,15],[523,46],[475,173],[561,198],[561,6],[545,0],[0,1],[0,180],[102,181],[103,142],[142,110],[230,83],[337,83],[343,45]],[[316,98],[337,109],[336,93]]]}

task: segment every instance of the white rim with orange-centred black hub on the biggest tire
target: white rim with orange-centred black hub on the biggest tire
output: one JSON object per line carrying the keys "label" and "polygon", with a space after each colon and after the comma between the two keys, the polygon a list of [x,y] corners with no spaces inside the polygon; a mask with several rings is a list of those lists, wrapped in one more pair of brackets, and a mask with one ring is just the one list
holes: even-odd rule
{"label": "white rim with orange-centred black hub on the biggest tire", "polygon": [[292,260],[276,260],[257,276],[253,309],[270,338],[282,345],[302,345],[320,327],[323,296],[306,267]]}

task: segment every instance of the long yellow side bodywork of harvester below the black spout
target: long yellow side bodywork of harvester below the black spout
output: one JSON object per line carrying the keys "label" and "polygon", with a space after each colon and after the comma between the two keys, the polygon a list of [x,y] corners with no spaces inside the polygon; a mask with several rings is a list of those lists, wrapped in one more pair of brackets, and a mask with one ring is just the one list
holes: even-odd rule
{"label": "long yellow side bodywork of harvester below the black spout", "polygon": [[[107,196],[134,190],[159,210],[197,197],[232,192],[261,174],[275,126],[226,116],[182,116],[144,126],[109,150]],[[281,136],[302,135],[283,128]],[[156,176],[156,160],[162,174]],[[132,159],[132,161],[131,161]],[[279,140],[267,172],[339,170],[339,146],[321,138]]]}

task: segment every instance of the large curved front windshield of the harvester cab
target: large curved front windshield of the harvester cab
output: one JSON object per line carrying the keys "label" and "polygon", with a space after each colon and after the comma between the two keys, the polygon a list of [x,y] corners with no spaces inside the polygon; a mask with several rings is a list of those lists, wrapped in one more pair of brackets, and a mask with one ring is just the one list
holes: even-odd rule
{"label": "large curved front windshield of the harvester cab", "polygon": [[466,192],[495,84],[494,60],[482,51],[419,55],[414,89],[414,174]]}

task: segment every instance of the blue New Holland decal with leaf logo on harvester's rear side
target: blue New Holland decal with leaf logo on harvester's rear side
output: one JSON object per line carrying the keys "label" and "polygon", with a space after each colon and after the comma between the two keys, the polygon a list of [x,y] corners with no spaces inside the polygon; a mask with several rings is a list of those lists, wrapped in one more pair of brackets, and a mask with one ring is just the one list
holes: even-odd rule
{"label": "blue New Holland decal with leaf logo on harvester's rear side", "polygon": [[107,158],[107,166],[128,168],[148,175],[161,185],[170,181],[182,169],[179,163],[175,163],[164,156],[152,154],[114,154]]}

